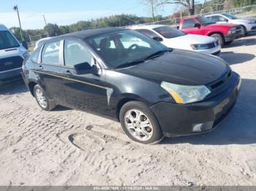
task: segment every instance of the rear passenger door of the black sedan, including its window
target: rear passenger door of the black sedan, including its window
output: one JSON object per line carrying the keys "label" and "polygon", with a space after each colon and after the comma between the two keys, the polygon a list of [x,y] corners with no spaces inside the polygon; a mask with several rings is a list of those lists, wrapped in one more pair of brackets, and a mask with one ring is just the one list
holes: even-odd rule
{"label": "rear passenger door of the black sedan, including its window", "polygon": [[37,65],[42,87],[49,98],[57,104],[64,104],[64,90],[60,74],[60,43],[61,40],[49,42],[42,47],[41,62]]}

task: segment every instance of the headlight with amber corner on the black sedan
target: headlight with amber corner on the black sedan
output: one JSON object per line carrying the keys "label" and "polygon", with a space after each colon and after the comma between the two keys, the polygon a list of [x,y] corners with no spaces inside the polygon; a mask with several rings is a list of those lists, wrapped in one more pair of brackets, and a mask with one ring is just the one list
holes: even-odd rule
{"label": "headlight with amber corner on the black sedan", "polygon": [[211,91],[204,85],[175,85],[169,82],[162,82],[161,87],[164,88],[167,93],[170,93],[178,104],[189,104],[202,101],[209,93],[211,93]]}

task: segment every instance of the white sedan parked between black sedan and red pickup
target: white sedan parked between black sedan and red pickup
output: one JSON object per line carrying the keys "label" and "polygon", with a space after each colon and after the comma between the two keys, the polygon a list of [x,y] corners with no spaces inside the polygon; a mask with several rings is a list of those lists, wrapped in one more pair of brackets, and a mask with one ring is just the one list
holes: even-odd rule
{"label": "white sedan parked between black sedan and red pickup", "polygon": [[220,55],[221,52],[219,42],[210,36],[186,34],[176,28],[164,25],[130,26],[129,28],[145,34],[167,47],[194,50],[211,55]]}

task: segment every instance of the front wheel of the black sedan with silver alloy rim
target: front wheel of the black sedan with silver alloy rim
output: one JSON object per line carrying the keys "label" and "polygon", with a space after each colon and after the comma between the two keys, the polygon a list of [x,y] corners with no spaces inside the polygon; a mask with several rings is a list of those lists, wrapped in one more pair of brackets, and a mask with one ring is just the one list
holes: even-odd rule
{"label": "front wheel of the black sedan with silver alloy rim", "polygon": [[130,101],[120,110],[121,127],[129,139],[142,144],[157,144],[164,138],[157,118],[145,104]]}

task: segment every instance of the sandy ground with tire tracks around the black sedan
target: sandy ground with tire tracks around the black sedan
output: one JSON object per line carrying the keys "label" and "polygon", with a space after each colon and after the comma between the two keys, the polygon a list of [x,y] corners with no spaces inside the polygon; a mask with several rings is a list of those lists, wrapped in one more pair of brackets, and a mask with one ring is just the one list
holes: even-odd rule
{"label": "sandy ground with tire tracks around the black sedan", "polygon": [[1,90],[0,185],[256,185],[255,55],[256,36],[223,49],[243,81],[219,128],[154,146],[86,112],[44,112],[22,83]]}

